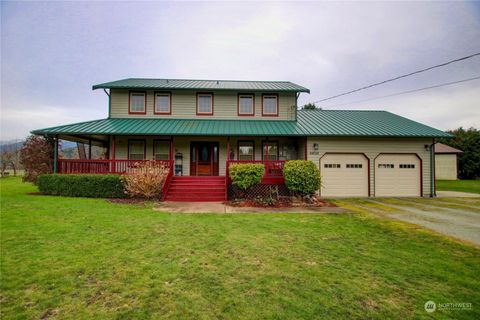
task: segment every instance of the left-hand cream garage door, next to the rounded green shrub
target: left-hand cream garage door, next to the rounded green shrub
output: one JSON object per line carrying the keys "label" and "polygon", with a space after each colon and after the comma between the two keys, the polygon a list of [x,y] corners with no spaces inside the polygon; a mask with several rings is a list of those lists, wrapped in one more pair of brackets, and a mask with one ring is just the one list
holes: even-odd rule
{"label": "left-hand cream garage door, next to the rounded green shrub", "polygon": [[368,160],[362,154],[326,154],[320,159],[322,197],[368,197]]}

